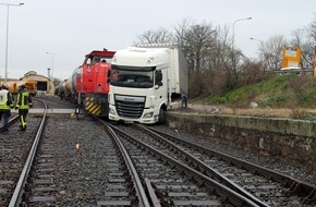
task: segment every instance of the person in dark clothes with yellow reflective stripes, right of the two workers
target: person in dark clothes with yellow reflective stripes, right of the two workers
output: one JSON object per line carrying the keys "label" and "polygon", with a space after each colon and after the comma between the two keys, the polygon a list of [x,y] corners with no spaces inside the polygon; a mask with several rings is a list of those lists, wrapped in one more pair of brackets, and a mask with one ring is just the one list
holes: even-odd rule
{"label": "person in dark clothes with yellow reflective stripes, right of the two workers", "polygon": [[33,107],[32,98],[31,98],[25,85],[20,86],[15,109],[19,109],[21,131],[26,130],[26,115],[28,113],[28,109],[32,107]]}

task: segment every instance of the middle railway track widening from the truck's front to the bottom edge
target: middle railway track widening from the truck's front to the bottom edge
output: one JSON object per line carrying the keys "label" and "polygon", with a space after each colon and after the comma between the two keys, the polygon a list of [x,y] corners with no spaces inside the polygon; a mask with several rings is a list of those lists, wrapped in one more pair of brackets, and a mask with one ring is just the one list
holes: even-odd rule
{"label": "middle railway track widening from the truck's front to the bottom edge", "polygon": [[139,141],[142,135],[130,136],[113,125],[107,127],[116,132],[124,146],[129,146],[129,155],[146,186],[147,195],[150,195],[148,200],[151,206],[155,206],[154,203],[157,206],[258,206],[183,165],[181,157],[167,156],[167,148],[158,150],[143,143]]}

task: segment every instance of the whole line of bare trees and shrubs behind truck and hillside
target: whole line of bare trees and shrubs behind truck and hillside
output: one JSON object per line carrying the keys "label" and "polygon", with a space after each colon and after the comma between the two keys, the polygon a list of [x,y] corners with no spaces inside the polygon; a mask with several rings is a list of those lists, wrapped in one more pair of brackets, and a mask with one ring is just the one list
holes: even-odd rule
{"label": "whole line of bare trees and shrubs behind truck and hillside", "polygon": [[316,46],[316,17],[309,25],[260,40],[259,59],[245,57],[233,46],[229,26],[183,20],[172,28],[148,29],[137,35],[137,44],[178,44],[189,63],[189,98],[218,96],[234,88],[257,83],[282,68],[283,45],[302,50],[301,66],[313,69]]}

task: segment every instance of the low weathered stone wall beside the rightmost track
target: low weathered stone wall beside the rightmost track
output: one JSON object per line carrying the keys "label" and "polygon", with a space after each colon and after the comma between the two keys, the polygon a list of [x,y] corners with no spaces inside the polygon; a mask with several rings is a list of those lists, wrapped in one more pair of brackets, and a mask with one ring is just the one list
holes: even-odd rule
{"label": "low weathered stone wall beside the rightmost track", "polygon": [[167,113],[173,129],[206,135],[216,143],[304,163],[316,171],[316,122],[276,118]]}

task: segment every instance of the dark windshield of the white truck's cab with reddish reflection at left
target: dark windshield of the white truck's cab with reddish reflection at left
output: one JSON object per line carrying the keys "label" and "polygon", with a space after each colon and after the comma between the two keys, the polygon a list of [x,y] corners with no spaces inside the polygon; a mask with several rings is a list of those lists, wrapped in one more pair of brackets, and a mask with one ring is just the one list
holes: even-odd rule
{"label": "dark windshield of the white truck's cab with reddish reflection at left", "polygon": [[111,69],[111,82],[113,86],[150,88],[154,86],[153,71],[135,71]]}

